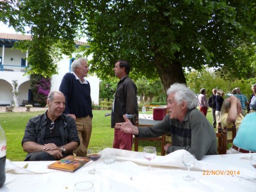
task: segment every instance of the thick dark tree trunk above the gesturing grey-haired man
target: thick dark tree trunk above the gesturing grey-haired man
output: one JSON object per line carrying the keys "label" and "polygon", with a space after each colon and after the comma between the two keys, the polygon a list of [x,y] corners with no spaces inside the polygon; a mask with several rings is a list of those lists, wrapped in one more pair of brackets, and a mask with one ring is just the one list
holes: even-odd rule
{"label": "thick dark tree trunk above the gesturing grey-haired man", "polygon": [[[184,76],[182,66],[178,61],[164,61],[161,56],[156,56],[156,68],[159,77],[164,86],[165,92],[170,88],[173,83],[184,83],[186,84],[186,78]],[[166,64],[166,63],[170,64]]]}

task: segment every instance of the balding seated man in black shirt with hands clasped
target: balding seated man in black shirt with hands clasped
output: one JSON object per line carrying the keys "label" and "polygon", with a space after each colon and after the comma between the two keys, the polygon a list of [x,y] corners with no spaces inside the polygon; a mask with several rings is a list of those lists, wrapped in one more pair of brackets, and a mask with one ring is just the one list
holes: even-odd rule
{"label": "balding seated man in black shirt with hands clasped", "polygon": [[72,155],[80,141],[76,122],[64,115],[65,97],[51,92],[47,97],[48,110],[31,118],[26,126],[22,147],[28,152],[25,161],[54,161]]}

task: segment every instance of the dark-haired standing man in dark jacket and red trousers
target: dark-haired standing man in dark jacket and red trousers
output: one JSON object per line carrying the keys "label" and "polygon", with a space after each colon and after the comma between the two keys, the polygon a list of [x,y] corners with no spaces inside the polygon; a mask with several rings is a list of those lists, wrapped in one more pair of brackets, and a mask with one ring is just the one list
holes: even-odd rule
{"label": "dark-haired standing man in dark jacket and red trousers", "polygon": [[[130,65],[127,61],[118,60],[115,63],[115,76],[120,79],[117,84],[115,100],[111,113],[111,127],[116,123],[124,122],[123,115],[127,115],[132,125],[138,119],[137,86],[129,78]],[[120,129],[115,129],[113,148],[132,150],[132,133],[124,133]]]}

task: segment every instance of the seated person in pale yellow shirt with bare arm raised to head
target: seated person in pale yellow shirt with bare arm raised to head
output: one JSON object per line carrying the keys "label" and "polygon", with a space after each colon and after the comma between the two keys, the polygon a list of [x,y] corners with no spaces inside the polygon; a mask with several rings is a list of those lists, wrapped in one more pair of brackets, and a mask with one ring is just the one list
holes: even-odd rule
{"label": "seated person in pale yellow shirt with bare arm raised to head", "polygon": [[221,125],[222,127],[232,127],[233,122],[236,124],[236,131],[244,118],[241,114],[241,102],[237,97],[231,96],[223,101],[221,107]]}

